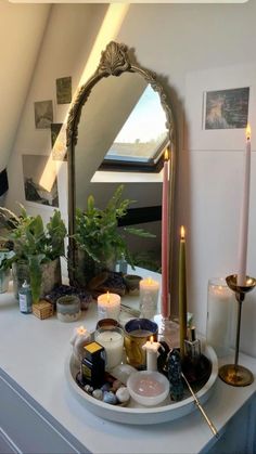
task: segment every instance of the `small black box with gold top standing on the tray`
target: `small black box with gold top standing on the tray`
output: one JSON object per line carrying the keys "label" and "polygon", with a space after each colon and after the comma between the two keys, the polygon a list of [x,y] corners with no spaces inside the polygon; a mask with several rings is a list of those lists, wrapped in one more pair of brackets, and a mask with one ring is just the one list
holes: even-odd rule
{"label": "small black box with gold top standing on the tray", "polygon": [[90,342],[84,347],[85,355],[81,361],[81,379],[92,388],[100,388],[104,384],[105,351],[98,342]]}

